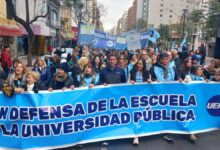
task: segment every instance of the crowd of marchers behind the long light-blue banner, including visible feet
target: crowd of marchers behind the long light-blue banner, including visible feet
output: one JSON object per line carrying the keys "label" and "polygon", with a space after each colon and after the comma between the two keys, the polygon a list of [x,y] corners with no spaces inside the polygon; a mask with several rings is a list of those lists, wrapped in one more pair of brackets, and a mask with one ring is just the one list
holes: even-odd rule
{"label": "crowd of marchers behind the long light-blue banner, including visible feet", "polygon": [[[76,47],[66,59],[57,49],[51,57],[37,57],[30,70],[19,59],[11,58],[9,47],[0,53],[0,89],[7,81],[16,93],[153,81],[220,81],[220,61],[212,59],[204,64],[202,47],[185,53],[174,48],[156,54],[153,48],[107,51],[84,46]],[[190,138],[196,140],[195,135]],[[136,137],[134,144],[138,143]]]}

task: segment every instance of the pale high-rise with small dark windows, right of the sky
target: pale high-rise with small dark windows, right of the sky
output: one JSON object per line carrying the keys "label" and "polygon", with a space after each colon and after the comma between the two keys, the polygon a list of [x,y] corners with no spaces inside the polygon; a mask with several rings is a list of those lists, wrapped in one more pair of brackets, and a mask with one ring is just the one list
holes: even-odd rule
{"label": "pale high-rise with small dark windows, right of the sky", "polygon": [[183,10],[189,7],[186,0],[138,0],[136,18],[142,18],[148,25],[158,28],[160,24],[180,22]]}

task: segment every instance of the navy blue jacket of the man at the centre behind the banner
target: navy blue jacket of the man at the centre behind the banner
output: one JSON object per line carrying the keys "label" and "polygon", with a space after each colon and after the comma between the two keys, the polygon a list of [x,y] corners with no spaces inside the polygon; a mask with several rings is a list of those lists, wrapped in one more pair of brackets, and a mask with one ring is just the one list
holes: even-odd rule
{"label": "navy blue jacket of the man at the centre behind the banner", "polygon": [[116,83],[126,83],[125,71],[122,68],[115,67],[111,70],[109,67],[101,70],[99,74],[99,84],[116,84]]}

